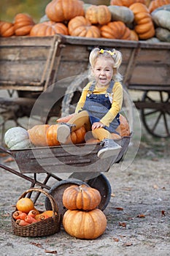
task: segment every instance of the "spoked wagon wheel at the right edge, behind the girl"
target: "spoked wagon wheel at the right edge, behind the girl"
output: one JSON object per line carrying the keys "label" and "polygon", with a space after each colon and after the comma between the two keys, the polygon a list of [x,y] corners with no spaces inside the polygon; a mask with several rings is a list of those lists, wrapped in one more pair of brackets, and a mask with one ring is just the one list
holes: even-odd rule
{"label": "spoked wagon wheel at the right edge, behind the girl", "polygon": [[142,101],[146,103],[141,115],[147,132],[158,138],[170,137],[170,92],[145,91]]}

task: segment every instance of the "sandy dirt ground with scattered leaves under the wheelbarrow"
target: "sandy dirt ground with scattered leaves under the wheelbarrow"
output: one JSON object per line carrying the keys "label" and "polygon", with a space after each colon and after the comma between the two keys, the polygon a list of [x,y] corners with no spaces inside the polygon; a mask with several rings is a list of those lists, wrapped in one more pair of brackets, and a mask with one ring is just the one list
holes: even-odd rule
{"label": "sandy dirt ground with scattered leaves under the wheelbarrow", "polygon": [[[129,148],[133,148],[134,143]],[[62,225],[61,231],[52,236],[15,236],[11,213],[20,195],[30,187],[30,182],[0,169],[1,256],[170,255],[169,148],[170,140],[152,138],[142,127],[139,150],[130,164],[125,158],[104,173],[112,187],[112,196],[104,209],[107,229],[95,240],[73,238]],[[18,170],[15,161],[6,160],[9,156],[1,154],[1,163]],[[38,203],[36,208],[40,205]]]}

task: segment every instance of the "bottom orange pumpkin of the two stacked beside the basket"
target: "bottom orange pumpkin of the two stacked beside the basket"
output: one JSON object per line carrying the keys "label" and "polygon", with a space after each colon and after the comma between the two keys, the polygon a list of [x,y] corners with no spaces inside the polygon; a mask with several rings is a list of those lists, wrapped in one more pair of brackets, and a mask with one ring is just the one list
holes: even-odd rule
{"label": "bottom orange pumpkin of the two stacked beside the basket", "polygon": [[101,236],[107,227],[107,218],[103,211],[67,210],[63,214],[63,228],[70,236],[80,239],[95,239]]}

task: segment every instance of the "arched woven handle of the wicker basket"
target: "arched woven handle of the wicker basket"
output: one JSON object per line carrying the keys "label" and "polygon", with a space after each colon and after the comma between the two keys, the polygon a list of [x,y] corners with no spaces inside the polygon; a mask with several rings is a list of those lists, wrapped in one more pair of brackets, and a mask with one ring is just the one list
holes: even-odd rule
{"label": "arched woven handle of the wicker basket", "polygon": [[51,206],[52,206],[52,209],[53,209],[53,216],[55,215],[55,213],[58,214],[58,206],[57,206],[57,203],[56,203],[55,199],[52,197],[52,195],[50,195],[49,193],[47,193],[43,189],[32,187],[32,188],[26,190],[25,192],[23,192],[23,195],[21,195],[18,200],[20,200],[21,198],[25,197],[26,194],[28,194],[29,192],[41,192],[41,193],[45,194],[49,198],[49,200],[50,200],[50,203],[51,203]]}

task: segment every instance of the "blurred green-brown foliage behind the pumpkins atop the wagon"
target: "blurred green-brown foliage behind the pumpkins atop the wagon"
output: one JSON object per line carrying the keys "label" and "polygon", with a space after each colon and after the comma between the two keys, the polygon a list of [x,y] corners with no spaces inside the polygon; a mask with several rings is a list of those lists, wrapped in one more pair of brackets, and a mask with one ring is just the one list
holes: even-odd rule
{"label": "blurred green-brown foliage behind the pumpkins atop the wagon", "polygon": [[[1,20],[12,22],[18,13],[31,15],[35,22],[45,15],[45,7],[51,0],[6,0],[1,4]],[[107,4],[109,0],[85,0],[87,4]]]}

